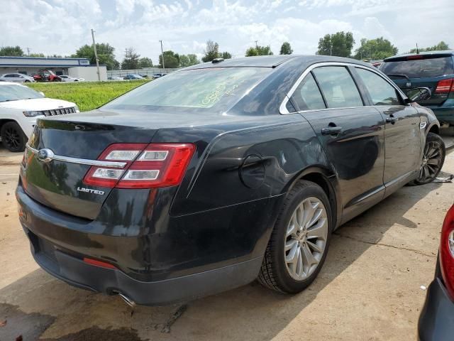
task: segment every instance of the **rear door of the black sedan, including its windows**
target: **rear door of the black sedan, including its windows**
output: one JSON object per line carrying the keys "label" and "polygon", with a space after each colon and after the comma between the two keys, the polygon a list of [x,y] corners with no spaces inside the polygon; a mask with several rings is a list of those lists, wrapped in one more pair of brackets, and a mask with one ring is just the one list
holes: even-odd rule
{"label": "rear door of the black sedan, including its windows", "polygon": [[338,175],[342,222],[382,200],[384,119],[364,105],[348,67],[314,67],[291,101],[313,127]]}

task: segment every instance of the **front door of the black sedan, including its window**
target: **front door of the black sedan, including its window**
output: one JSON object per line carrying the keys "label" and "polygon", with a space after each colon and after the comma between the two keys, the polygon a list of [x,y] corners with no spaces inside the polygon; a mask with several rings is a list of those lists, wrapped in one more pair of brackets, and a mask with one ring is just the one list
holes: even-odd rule
{"label": "front door of the black sedan, including its window", "polygon": [[358,82],[367,90],[370,102],[382,114],[384,126],[384,174],[387,195],[400,188],[419,171],[421,163],[421,117],[397,88],[379,72],[355,67]]}

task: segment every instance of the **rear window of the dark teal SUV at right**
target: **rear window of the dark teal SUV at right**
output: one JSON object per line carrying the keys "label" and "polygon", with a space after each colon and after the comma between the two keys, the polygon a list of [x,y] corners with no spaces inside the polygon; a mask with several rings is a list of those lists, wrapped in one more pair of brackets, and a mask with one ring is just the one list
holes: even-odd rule
{"label": "rear window of the dark teal SUV at right", "polygon": [[409,78],[438,77],[454,74],[453,58],[424,58],[415,60],[390,61],[380,67],[387,75],[400,74]]}

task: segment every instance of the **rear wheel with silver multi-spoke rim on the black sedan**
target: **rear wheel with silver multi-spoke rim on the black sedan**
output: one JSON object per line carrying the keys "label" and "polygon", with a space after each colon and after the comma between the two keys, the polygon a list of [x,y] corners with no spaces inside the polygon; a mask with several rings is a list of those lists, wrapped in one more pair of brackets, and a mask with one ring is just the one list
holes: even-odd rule
{"label": "rear wheel with silver multi-spoke rim on the black sedan", "polygon": [[303,291],[323,266],[331,231],[326,193],[316,183],[299,181],[279,212],[258,281],[282,293]]}

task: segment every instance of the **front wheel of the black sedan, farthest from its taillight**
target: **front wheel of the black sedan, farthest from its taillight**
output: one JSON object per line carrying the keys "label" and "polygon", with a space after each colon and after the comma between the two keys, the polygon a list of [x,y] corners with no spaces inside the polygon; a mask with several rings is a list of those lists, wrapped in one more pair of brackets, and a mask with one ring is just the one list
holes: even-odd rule
{"label": "front wheel of the black sedan, farthest from its taillight", "polygon": [[445,163],[446,148],[443,139],[437,134],[428,133],[423,151],[423,160],[418,178],[409,185],[424,185],[438,176]]}

